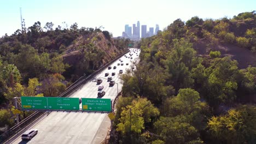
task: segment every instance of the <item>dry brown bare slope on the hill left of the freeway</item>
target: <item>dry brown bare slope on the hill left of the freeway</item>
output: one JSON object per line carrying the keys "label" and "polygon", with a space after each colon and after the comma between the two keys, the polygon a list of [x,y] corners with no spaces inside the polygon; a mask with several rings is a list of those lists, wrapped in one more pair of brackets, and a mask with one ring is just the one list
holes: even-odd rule
{"label": "dry brown bare slope on the hill left of the freeway", "polygon": [[[102,32],[80,36],[67,47],[65,54],[62,55],[65,63],[71,65],[71,69],[74,71],[75,75],[83,75],[83,68],[79,65],[82,64],[82,61],[85,58],[85,52],[92,52],[91,49],[89,50],[88,45],[94,46],[96,51],[101,51],[103,54],[102,58],[95,57],[96,59],[94,59],[94,61],[98,62],[98,67],[93,67],[93,70],[110,62],[126,50],[125,48],[120,49],[115,46],[115,41],[112,38],[107,39]],[[97,53],[98,52],[95,52],[95,55]]]}

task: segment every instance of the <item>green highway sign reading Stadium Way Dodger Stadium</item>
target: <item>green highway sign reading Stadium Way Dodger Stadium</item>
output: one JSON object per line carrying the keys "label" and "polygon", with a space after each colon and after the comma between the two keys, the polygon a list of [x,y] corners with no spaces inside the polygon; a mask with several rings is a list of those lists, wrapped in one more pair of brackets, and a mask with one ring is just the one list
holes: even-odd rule
{"label": "green highway sign reading Stadium Way Dodger Stadium", "polygon": [[84,111],[111,111],[110,99],[82,98]]}

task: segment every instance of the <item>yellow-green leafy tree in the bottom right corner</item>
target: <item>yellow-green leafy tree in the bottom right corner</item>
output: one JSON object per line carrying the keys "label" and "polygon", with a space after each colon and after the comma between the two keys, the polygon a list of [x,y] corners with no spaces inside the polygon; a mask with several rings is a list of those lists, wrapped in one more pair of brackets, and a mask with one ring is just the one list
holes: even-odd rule
{"label": "yellow-green leafy tree in the bottom right corner", "polygon": [[231,109],[224,116],[213,116],[208,121],[212,139],[224,143],[256,142],[256,107],[252,105]]}

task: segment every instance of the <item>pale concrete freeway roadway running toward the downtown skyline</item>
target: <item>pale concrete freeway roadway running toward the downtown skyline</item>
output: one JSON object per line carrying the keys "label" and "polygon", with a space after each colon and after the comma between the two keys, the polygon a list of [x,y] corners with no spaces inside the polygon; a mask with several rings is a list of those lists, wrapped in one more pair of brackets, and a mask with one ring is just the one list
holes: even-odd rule
{"label": "pale concrete freeway roadway running toward the downtown skyline", "polygon": [[[135,49],[130,49],[135,50]],[[138,52],[131,52],[132,58],[121,57],[114,63],[110,64],[112,69],[104,69],[88,81],[82,88],[77,92],[73,93],[71,98],[97,98],[98,86],[96,85],[96,79],[98,77],[105,77],[105,73],[109,73],[109,76],[113,72],[115,75],[112,76],[116,82],[113,87],[109,87],[109,82],[106,79],[102,79],[103,82],[100,86],[104,86],[103,91],[106,94],[102,98],[109,98],[114,100],[117,96],[117,90],[120,92],[122,88],[121,80],[119,79],[119,70],[131,69],[132,62],[136,61],[139,56]],[[137,55],[136,55],[137,53]],[[126,53],[129,56],[129,53]],[[118,65],[120,63],[120,65]],[[121,65],[124,63],[124,65]],[[129,63],[129,65],[126,65]],[[117,66],[117,69],[113,69]],[[118,83],[118,86],[117,86]],[[117,89],[117,87],[119,89]],[[80,104],[80,108],[82,104]],[[106,113],[95,113],[95,112],[50,112],[49,115],[44,115],[38,121],[34,122],[28,129],[37,129],[38,134],[30,141],[22,141],[21,134],[13,137],[8,143],[100,143],[104,136],[106,136],[110,123]]]}

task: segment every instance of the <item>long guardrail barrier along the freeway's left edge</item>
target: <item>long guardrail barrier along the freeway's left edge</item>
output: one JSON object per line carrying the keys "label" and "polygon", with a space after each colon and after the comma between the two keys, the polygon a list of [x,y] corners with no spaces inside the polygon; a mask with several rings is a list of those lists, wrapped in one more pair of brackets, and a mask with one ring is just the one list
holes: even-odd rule
{"label": "long guardrail barrier along the freeway's left edge", "polygon": [[[94,77],[95,75],[100,73],[100,71],[102,71],[103,69],[107,68],[108,65],[112,64],[118,58],[124,56],[125,53],[127,53],[127,52],[129,52],[129,49],[127,51],[125,51],[124,53],[122,53],[121,55],[119,55],[118,57],[114,58],[112,61],[110,61],[106,65],[103,65],[100,69],[94,71],[94,73],[92,73],[91,75],[89,75],[87,77],[84,77],[84,76],[80,77],[77,81],[72,83],[72,85],[67,87],[66,91],[61,93],[59,95],[59,97],[69,97],[71,94],[76,92],[77,89],[82,87],[87,81],[92,79],[92,77]],[[44,113],[45,112],[42,112],[42,111],[36,111],[36,112],[32,113],[30,116],[28,116],[25,119],[23,119],[19,124],[16,124],[16,125],[14,125],[14,127],[11,127],[8,131],[5,131],[5,133],[0,135],[0,143],[9,140],[8,138],[11,137],[11,136],[13,136],[15,134],[18,134],[20,132],[20,130],[25,128],[28,124],[30,124],[32,121],[36,120],[38,117],[40,117]]]}

